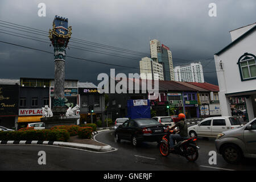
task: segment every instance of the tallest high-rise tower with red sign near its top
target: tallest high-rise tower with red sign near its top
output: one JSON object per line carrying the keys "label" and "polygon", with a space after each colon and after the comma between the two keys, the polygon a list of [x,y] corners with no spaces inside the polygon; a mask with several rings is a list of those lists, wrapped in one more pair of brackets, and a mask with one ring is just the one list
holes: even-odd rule
{"label": "tallest high-rise tower with red sign near its top", "polygon": [[161,44],[159,40],[150,40],[151,59],[163,65],[164,80],[174,80],[174,66],[170,48]]}

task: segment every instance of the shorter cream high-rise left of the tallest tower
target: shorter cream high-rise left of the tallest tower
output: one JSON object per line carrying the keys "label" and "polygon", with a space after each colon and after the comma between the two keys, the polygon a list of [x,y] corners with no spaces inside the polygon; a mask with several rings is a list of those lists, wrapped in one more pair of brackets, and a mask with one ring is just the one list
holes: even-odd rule
{"label": "shorter cream high-rise left of the tallest tower", "polygon": [[164,80],[163,65],[149,57],[143,57],[142,60],[139,61],[139,69],[141,74],[144,73],[144,75],[141,75],[142,79]]}

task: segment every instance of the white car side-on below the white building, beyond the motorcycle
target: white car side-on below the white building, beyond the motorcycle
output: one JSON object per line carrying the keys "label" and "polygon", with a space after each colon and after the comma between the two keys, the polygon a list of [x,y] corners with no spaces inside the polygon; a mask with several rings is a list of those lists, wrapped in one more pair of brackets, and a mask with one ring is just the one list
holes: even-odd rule
{"label": "white car side-on below the white building, beyond the motorcycle", "polygon": [[243,123],[241,117],[210,117],[205,118],[197,125],[188,127],[191,137],[217,137],[222,131],[240,127]]}

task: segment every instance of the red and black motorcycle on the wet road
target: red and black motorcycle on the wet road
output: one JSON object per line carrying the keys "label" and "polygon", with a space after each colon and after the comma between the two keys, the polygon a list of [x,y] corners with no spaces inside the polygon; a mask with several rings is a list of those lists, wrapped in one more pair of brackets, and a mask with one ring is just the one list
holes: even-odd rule
{"label": "red and black motorcycle on the wet road", "polygon": [[159,144],[160,154],[168,156],[170,153],[184,156],[188,161],[195,162],[199,156],[199,146],[196,145],[196,137],[188,138],[174,145],[174,150],[170,150],[170,135],[175,134],[175,130],[167,130]]}

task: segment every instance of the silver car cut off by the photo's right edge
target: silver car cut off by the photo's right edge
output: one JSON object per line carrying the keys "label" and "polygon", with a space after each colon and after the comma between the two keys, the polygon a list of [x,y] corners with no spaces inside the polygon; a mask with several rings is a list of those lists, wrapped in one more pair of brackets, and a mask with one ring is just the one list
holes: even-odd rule
{"label": "silver car cut off by the photo's right edge", "polygon": [[256,118],[237,129],[218,134],[215,146],[228,163],[237,163],[243,156],[256,158]]}

